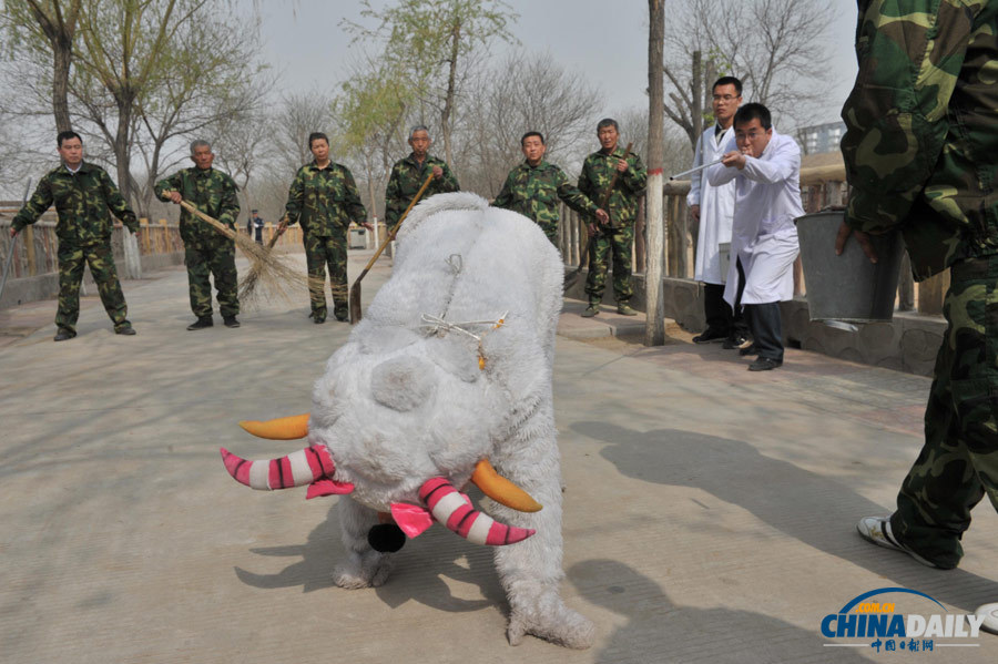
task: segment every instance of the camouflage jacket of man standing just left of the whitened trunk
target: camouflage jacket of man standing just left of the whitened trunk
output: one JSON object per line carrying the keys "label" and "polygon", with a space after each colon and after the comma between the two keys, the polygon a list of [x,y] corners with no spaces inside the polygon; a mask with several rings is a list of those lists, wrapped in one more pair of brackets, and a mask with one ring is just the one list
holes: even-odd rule
{"label": "camouflage jacket of man standing just left of the whitened trunk", "polygon": [[[608,154],[602,150],[593,152],[582,163],[582,173],[579,175],[579,190],[585,194],[597,206],[601,206],[610,181],[617,173],[617,162],[623,159],[623,150],[620,146]],[[648,171],[641,163],[641,157],[631,153],[628,156],[628,170],[620,174],[610,202],[604,207],[610,215],[610,227],[622,228],[633,226],[638,218],[638,195],[644,191],[648,184]]]}

